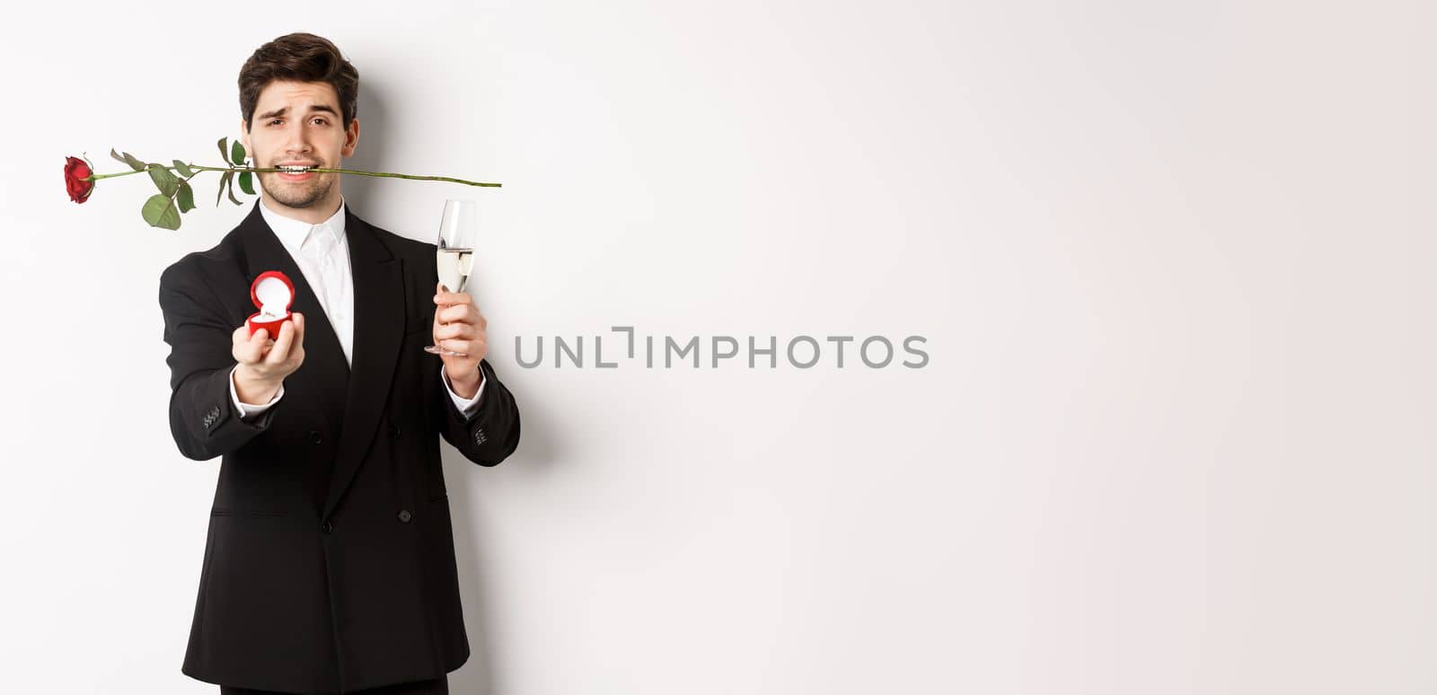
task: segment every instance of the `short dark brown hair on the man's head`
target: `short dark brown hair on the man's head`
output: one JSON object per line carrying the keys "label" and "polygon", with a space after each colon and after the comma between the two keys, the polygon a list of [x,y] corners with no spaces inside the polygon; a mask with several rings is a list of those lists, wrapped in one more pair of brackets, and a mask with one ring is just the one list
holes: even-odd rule
{"label": "short dark brown hair on the man's head", "polygon": [[250,55],[240,67],[240,116],[251,126],[260,92],[274,80],[328,82],[339,95],[343,128],[359,111],[359,70],[323,36],[292,33],[280,36]]}

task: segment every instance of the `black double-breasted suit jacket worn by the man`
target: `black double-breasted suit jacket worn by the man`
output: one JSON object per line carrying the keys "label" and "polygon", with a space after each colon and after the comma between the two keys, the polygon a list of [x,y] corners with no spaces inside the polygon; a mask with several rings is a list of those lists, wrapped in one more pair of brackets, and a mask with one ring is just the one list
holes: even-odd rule
{"label": "black double-breasted suit jacket worn by the man", "polygon": [[[354,368],[305,274],[259,210],[160,277],[170,429],[223,457],[182,672],[213,684],[335,692],[438,678],[468,658],[440,437],[479,465],[519,445],[519,409],[489,360],[466,419],[422,350],[434,244],[345,205]],[[280,270],[306,319],[305,363],[253,421],[230,399],[231,333],[250,283]],[[440,437],[437,437],[440,435]]]}

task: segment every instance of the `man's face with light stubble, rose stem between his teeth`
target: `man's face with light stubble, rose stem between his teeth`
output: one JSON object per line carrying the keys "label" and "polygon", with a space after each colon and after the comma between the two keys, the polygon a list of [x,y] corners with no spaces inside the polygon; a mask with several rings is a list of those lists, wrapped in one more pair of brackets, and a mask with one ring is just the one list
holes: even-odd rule
{"label": "man's face with light stubble, rose stem between his teeth", "polygon": [[[328,82],[270,82],[260,90],[254,122],[240,122],[254,167],[299,164],[341,168],[359,142],[359,119],[341,126],[339,95]],[[269,198],[290,208],[339,205],[339,174],[257,174]]]}

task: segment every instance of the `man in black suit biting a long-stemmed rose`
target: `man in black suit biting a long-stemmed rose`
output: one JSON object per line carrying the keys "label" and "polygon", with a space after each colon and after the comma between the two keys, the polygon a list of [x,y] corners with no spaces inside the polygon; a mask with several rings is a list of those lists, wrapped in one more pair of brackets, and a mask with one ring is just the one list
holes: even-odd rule
{"label": "man in black suit biting a long-stemmed rose", "polygon": [[[254,164],[342,167],[358,85],[319,36],[256,50]],[[171,432],[188,458],[223,457],[182,672],[226,695],[448,692],[468,639],[438,439],[486,467],[519,445],[486,320],[438,284],[434,244],[361,220],[339,174],[259,182],[239,227],[160,279]],[[293,319],[250,336],[266,270],[293,281]]]}

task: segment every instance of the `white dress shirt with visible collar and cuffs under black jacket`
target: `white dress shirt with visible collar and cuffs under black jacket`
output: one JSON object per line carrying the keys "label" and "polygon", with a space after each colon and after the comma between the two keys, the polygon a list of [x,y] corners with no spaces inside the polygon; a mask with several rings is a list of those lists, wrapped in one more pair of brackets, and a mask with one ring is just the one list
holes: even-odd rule
{"label": "white dress shirt with visible collar and cuffs under black jacket", "polygon": [[[285,244],[289,254],[295,257],[299,271],[305,274],[305,281],[318,294],[315,299],[319,300],[319,306],[323,309],[325,317],[329,319],[329,325],[335,327],[335,337],[339,339],[345,362],[354,365],[354,273],[349,270],[349,238],[345,235],[343,195],[339,197],[339,210],[329,220],[319,224],[309,224],[303,220],[274,213],[264,205],[263,198],[257,204],[260,215],[274,230],[274,235]],[[234,369],[239,368],[239,365],[234,365]],[[240,412],[241,419],[249,419],[267,411],[269,406],[274,405],[285,395],[285,385],[280,383],[274,398],[270,398],[267,404],[256,405],[240,401],[239,392],[234,389],[234,369],[230,369],[230,399],[234,401],[234,408]],[[440,381],[444,382],[444,391],[454,401],[454,406],[466,418],[473,416],[479,405],[479,396],[484,395],[484,382],[479,383],[474,398],[461,398],[450,388],[448,375],[443,366],[440,368]]]}

